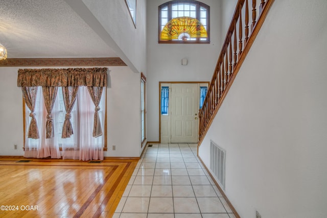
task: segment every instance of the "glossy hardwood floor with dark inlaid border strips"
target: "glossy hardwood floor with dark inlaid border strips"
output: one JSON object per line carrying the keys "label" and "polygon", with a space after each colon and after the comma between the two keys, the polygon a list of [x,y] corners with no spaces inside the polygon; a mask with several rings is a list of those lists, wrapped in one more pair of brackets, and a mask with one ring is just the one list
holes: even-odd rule
{"label": "glossy hardwood floor with dark inlaid border strips", "polygon": [[138,160],[0,157],[0,217],[112,217]]}

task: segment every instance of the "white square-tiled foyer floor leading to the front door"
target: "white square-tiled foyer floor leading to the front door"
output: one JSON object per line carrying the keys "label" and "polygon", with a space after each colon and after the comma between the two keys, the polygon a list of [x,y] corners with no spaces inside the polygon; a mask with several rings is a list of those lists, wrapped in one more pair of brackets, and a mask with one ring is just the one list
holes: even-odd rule
{"label": "white square-tiled foyer floor leading to the front door", "polygon": [[197,158],[197,144],[145,149],[113,217],[235,217]]}

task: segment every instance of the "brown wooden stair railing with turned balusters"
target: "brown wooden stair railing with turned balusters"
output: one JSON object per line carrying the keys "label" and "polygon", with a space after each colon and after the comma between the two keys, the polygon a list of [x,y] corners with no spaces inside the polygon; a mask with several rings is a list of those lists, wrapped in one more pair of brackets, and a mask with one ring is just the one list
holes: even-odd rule
{"label": "brown wooden stair railing with turned balusters", "polygon": [[[249,1],[252,1],[252,4],[249,4]],[[257,5],[256,0],[238,1],[203,106],[199,112],[198,146],[201,144],[231,84],[235,80],[273,2],[274,0],[261,0],[261,3]],[[258,9],[259,15],[257,16]],[[250,13],[252,21],[249,31]]]}

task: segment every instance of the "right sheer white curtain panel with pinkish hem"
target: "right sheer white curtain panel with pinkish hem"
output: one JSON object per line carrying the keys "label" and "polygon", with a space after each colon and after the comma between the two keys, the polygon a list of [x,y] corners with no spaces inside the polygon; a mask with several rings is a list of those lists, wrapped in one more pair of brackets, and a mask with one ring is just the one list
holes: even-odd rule
{"label": "right sheer white curtain panel with pinkish hem", "polygon": [[[102,92],[99,103],[99,117],[101,127],[104,130],[105,120],[105,90]],[[63,159],[80,160],[103,160],[104,135],[93,137],[95,105],[92,102],[86,86],[78,89],[77,100],[71,112],[74,119],[73,129],[74,145],[71,138],[62,139],[62,157]]]}

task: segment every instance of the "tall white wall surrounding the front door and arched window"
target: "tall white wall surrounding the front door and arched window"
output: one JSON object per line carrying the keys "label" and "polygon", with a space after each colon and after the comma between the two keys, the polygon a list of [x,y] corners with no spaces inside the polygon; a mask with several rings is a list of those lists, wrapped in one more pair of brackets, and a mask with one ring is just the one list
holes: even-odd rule
{"label": "tall white wall surrounding the front door and arched window", "polygon": [[[159,82],[210,81],[221,49],[220,1],[210,6],[210,44],[159,44],[158,6],[167,0],[147,1],[147,137],[159,140]],[[187,58],[188,65],[181,65]]]}

